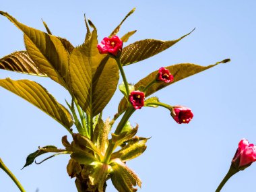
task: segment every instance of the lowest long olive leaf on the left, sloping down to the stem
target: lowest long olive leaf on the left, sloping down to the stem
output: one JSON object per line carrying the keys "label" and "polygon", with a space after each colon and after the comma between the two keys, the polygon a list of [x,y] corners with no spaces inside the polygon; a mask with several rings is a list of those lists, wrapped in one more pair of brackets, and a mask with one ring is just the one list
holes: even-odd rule
{"label": "lowest long olive leaf on the left, sloping down to the stem", "polygon": [[15,81],[7,78],[0,79],[0,86],[34,104],[70,131],[73,121],[69,111],[40,84],[27,79]]}

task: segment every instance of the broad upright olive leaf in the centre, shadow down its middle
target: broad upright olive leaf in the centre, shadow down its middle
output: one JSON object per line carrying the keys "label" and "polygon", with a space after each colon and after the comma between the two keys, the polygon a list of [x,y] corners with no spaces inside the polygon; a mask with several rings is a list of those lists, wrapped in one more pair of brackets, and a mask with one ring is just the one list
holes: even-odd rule
{"label": "broad upright olive leaf in the centre, shadow down its middle", "polygon": [[119,81],[119,69],[115,59],[100,55],[97,49],[97,32],[87,43],[73,50],[69,70],[73,93],[79,106],[94,117],[112,98]]}

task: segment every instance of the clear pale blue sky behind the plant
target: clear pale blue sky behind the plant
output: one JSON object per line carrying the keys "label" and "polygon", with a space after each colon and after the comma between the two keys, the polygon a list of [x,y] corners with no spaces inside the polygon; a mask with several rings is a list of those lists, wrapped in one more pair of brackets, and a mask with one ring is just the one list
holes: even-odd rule
{"label": "clear pale blue sky behind the plant", "polygon": [[[231,63],[199,73],[155,95],[162,102],[189,106],[194,118],[178,125],[164,108],[142,108],[131,117],[139,123],[138,135],[152,137],[139,158],[128,162],[141,178],[138,191],[211,192],[228,171],[243,137],[256,143],[255,126],[255,31],[256,2],[248,1],[1,1],[0,9],[20,22],[44,30],[41,18],[53,34],[82,44],[86,34],[84,13],[98,28],[101,40],[133,7],[135,13],[123,24],[120,36],[137,32],[128,43],[145,38],[172,40],[195,31],[167,51],[125,67],[127,79],[136,83],[159,67],[176,63],[210,65],[230,58]],[[0,57],[24,50],[22,32],[0,17]],[[57,100],[70,99],[59,85],[43,77],[0,71],[0,77],[33,79],[45,86]],[[24,170],[26,156],[38,146],[62,147],[67,131],[51,117],[22,98],[0,88],[0,157],[27,191],[75,191],[65,170],[69,156],[57,156]],[[113,117],[121,94],[104,110]],[[70,139],[70,137],[69,137]],[[42,159],[42,158],[39,158]],[[252,191],[256,166],[234,175],[223,191]],[[249,184],[250,183],[250,184]],[[18,191],[0,170],[0,191]],[[115,191],[108,182],[106,191]]]}

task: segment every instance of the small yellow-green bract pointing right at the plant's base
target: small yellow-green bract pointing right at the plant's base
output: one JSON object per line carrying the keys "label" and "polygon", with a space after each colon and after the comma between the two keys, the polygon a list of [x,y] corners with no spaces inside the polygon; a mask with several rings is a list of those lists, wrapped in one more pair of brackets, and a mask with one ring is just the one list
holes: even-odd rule
{"label": "small yellow-green bract pointing right at the plant's base", "polygon": [[147,148],[146,141],[148,139],[143,140],[135,140],[127,143],[127,145],[121,150],[113,153],[111,155],[111,159],[120,158],[123,161],[132,160],[133,158],[137,158],[140,156]]}

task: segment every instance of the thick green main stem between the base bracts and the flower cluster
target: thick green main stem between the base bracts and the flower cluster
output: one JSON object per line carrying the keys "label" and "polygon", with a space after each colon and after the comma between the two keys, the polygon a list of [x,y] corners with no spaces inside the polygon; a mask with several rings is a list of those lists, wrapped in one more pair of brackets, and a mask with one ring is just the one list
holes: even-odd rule
{"label": "thick green main stem between the base bracts and the flower cluster", "polygon": [[[127,108],[127,110],[125,111],[125,114],[123,115],[121,121],[119,122],[119,125],[117,125],[115,134],[119,134],[122,132],[122,129],[125,126],[125,123],[127,123],[128,119],[131,117],[131,115],[133,114],[134,111],[135,111],[135,109],[133,107]],[[105,155],[105,160],[104,160],[104,162],[106,164],[108,164],[111,154],[112,154],[113,150],[115,150],[114,147],[115,147],[115,143],[110,142],[108,145],[108,148],[106,149],[106,155]]]}

